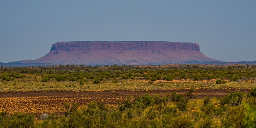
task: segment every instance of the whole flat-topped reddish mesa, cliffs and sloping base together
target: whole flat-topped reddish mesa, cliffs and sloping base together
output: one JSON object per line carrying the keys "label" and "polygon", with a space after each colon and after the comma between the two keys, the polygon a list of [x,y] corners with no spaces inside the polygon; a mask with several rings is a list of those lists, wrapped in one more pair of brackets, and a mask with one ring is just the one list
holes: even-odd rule
{"label": "whole flat-topped reddish mesa, cliffs and sloping base together", "polygon": [[58,42],[32,63],[50,64],[173,64],[220,62],[207,58],[196,43],[159,41],[75,41]]}

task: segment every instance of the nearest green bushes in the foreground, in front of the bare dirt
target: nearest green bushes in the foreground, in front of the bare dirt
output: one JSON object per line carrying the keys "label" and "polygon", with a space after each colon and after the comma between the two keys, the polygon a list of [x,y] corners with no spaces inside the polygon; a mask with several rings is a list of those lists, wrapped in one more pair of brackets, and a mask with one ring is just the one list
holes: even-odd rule
{"label": "nearest green bushes in the foreground, in front of the bare dirt", "polygon": [[62,115],[43,113],[40,123],[34,115],[6,111],[0,113],[2,128],[254,128],[256,126],[255,90],[248,94],[231,92],[221,98],[189,100],[180,94],[140,97],[127,96],[116,107],[102,102],[86,106],[65,103]]}

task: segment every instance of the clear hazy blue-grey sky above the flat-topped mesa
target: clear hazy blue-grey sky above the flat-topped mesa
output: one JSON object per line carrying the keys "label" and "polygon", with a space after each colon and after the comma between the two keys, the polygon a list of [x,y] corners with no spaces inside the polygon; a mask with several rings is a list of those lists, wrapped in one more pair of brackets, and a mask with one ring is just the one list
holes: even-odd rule
{"label": "clear hazy blue-grey sky above the flat-topped mesa", "polygon": [[172,41],[207,57],[256,60],[256,0],[0,0],[0,62],[60,41]]}

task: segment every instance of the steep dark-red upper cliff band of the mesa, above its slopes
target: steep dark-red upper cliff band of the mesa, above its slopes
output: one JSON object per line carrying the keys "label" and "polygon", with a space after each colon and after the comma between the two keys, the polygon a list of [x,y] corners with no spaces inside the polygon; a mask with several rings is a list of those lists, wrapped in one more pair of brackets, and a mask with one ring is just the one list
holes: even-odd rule
{"label": "steep dark-red upper cliff band of the mesa, above its slopes", "polygon": [[98,50],[150,50],[150,51],[200,51],[196,43],[177,43],[164,41],[72,41],[57,42],[51,51],[98,51]]}

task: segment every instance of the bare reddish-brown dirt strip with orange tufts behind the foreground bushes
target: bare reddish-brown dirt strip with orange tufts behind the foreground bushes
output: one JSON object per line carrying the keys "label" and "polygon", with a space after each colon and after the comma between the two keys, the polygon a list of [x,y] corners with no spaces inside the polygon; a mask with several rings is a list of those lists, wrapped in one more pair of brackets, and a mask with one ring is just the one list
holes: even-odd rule
{"label": "bare reddish-brown dirt strip with orange tufts behind the foreground bushes", "polygon": [[[198,89],[194,95],[198,98],[209,98],[224,96],[230,92],[249,92],[251,89]],[[0,111],[9,113],[34,113],[39,117],[42,113],[63,113],[65,102],[78,102],[86,105],[88,102],[102,101],[108,105],[117,105],[118,100],[124,101],[127,95],[132,97],[141,96],[145,93],[154,94],[185,94],[188,89],[179,90],[149,90],[149,91],[129,91],[129,90],[108,90],[103,92],[71,92],[71,91],[34,91],[34,92],[2,92],[0,93]]]}

